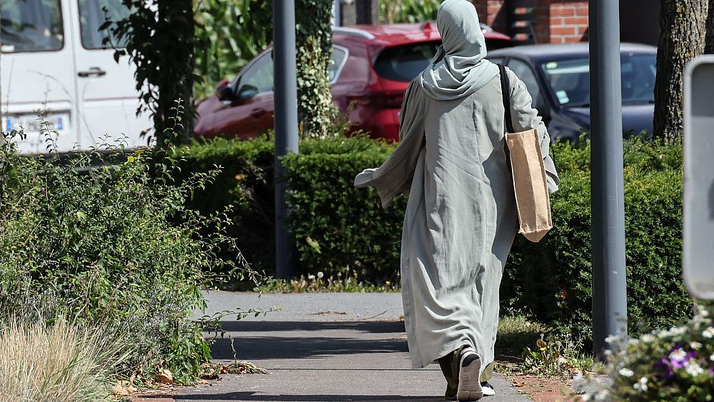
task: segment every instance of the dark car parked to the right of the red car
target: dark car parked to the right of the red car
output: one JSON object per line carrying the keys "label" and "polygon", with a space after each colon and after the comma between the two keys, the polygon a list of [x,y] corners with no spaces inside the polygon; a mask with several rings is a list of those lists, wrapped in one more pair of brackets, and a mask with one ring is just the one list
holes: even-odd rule
{"label": "dark car parked to the right of the red car", "polygon": [[[623,135],[652,132],[657,48],[620,46]],[[533,106],[553,139],[574,141],[590,131],[588,44],[543,44],[492,51],[488,59],[505,64],[528,87]]]}

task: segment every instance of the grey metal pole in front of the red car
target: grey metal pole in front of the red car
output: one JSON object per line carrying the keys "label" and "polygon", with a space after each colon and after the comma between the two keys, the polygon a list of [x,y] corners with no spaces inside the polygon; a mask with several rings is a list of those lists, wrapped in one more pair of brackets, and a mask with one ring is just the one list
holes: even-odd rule
{"label": "grey metal pole in front of the red car", "polygon": [[280,157],[298,151],[298,92],[295,61],[295,1],[273,0],[275,57],[275,246],[276,276],[295,276],[293,239],[286,218],[285,167]]}

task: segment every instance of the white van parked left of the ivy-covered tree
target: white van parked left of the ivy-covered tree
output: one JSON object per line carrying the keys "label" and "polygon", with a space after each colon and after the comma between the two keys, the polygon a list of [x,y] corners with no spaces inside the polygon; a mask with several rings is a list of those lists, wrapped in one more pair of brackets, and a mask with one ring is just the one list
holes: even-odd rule
{"label": "white van parked left of the ivy-covered tree", "polygon": [[59,151],[98,146],[107,134],[146,144],[151,119],[136,116],[134,66],[102,44],[105,9],[114,20],[127,12],[121,0],[0,0],[1,131],[22,127],[21,151],[46,151],[39,111]]}

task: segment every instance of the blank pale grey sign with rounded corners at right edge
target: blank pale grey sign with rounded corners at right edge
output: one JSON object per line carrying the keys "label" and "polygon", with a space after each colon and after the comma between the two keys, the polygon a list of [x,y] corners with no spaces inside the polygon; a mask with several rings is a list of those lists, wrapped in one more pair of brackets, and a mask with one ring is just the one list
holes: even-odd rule
{"label": "blank pale grey sign with rounded corners at right edge", "polygon": [[692,296],[714,299],[714,56],[685,69],[683,260]]}

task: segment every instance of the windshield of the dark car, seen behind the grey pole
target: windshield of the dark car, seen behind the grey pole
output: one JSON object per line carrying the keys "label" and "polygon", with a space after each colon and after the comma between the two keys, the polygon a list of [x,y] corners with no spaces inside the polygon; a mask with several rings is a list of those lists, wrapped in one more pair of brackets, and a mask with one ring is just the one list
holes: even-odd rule
{"label": "windshield of the dark car, seen behind the grey pole", "polygon": [[[623,54],[620,59],[623,105],[654,102],[655,60],[654,54]],[[545,72],[545,81],[561,106],[590,106],[588,59],[548,61],[540,67]]]}

